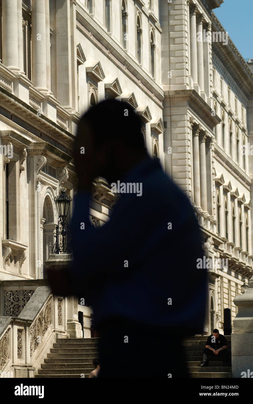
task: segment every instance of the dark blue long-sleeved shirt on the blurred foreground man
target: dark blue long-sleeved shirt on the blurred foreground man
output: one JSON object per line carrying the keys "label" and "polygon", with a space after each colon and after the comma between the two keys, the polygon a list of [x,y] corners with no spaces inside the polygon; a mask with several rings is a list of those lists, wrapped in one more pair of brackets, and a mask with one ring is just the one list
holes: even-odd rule
{"label": "dark blue long-sleeved shirt on the blurred foreground man", "polygon": [[98,228],[89,219],[89,194],[76,196],[71,273],[76,296],[88,299],[97,325],[120,316],[169,332],[202,333],[207,272],[196,268],[203,252],[188,198],[157,160],[145,160],[122,182],[142,183],[142,195],[120,194],[110,220]]}

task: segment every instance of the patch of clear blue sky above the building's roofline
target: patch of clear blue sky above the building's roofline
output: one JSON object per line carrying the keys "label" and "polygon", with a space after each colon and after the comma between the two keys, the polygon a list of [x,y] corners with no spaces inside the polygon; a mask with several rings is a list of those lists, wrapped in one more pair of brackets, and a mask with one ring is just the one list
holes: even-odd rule
{"label": "patch of clear blue sky above the building's roofline", "polygon": [[253,59],[253,0],[224,0],[213,10],[244,59]]}

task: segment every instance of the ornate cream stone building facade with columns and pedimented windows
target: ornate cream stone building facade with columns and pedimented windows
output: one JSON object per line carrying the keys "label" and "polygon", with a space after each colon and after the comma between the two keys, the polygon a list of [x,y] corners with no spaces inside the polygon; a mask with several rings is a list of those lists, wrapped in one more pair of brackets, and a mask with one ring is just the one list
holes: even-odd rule
{"label": "ornate cream stone building facade with columns and pedimented windows", "polygon": [[[252,270],[253,166],[240,151],[253,143],[253,74],[230,39],[197,40],[225,31],[212,12],[221,2],[2,0],[0,280],[44,278],[53,199],[76,189],[78,120],[114,98],[136,109],[148,152],[191,199],[206,257],[228,259],[209,269],[205,333],[223,328],[223,308],[234,318]],[[93,185],[91,220],[101,226],[116,201],[103,179]],[[0,315],[4,307],[1,297]],[[78,311],[89,337],[91,309]]]}

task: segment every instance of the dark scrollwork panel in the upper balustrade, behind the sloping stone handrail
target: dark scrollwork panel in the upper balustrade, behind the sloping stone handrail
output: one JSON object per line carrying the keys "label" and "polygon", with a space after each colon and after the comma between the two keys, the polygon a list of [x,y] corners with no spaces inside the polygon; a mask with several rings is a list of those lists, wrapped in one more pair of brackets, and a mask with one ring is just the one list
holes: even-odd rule
{"label": "dark scrollwork panel in the upper balustrade, behind the sloping stone handrail", "polygon": [[35,290],[5,290],[4,316],[18,316]]}

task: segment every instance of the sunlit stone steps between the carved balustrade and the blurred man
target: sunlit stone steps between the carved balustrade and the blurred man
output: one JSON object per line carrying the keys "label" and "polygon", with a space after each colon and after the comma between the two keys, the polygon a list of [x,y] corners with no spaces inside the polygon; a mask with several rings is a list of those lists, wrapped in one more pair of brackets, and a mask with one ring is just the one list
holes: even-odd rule
{"label": "sunlit stone steps between the carved balustrade and the blurred man", "polygon": [[57,339],[38,369],[36,378],[53,377],[89,377],[94,370],[92,364],[99,358],[99,338],[66,338]]}

